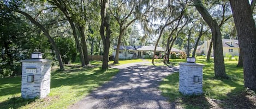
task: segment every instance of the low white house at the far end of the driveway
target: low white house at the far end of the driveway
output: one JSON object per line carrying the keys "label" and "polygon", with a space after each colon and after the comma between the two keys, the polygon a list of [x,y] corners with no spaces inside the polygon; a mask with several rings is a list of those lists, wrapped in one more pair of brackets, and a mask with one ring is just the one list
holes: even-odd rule
{"label": "low white house at the far end of the driveway", "polygon": [[[120,46],[119,59],[133,59],[133,58],[145,58],[145,56],[153,55],[154,46]],[[162,47],[157,47],[156,55],[161,55],[165,50]],[[180,53],[181,51],[172,48],[171,52]],[[114,46],[114,52],[112,56],[116,55],[116,46]]]}

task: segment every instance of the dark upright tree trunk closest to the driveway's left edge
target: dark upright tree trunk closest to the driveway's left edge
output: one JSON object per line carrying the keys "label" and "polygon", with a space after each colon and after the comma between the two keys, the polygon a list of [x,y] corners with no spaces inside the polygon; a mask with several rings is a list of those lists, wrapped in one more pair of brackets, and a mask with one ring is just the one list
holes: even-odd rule
{"label": "dark upright tree trunk closest to the driveway's left edge", "polygon": [[104,46],[104,55],[102,62],[102,69],[108,69],[108,61],[109,61],[109,47],[110,47],[110,15],[109,15],[109,0],[101,0],[100,1],[100,16],[102,18],[100,24],[100,36],[102,37],[102,42]]}

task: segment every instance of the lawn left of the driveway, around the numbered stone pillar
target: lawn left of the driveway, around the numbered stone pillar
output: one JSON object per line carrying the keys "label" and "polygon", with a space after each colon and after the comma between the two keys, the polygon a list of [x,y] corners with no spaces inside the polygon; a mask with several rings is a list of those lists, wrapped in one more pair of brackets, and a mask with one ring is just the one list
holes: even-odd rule
{"label": "lawn left of the driveway, around the numbered stone pillar", "polygon": [[66,66],[64,71],[52,70],[51,92],[44,99],[22,99],[21,76],[0,79],[0,108],[68,108],[117,72],[118,69],[102,71],[100,67],[79,65]]}

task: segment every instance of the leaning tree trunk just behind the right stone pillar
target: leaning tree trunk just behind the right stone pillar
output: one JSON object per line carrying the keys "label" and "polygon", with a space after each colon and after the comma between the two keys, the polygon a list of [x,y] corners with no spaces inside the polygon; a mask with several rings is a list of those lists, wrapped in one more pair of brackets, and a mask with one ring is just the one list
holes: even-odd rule
{"label": "leaning tree trunk just behind the right stone pillar", "polygon": [[224,65],[221,29],[219,28],[216,20],[213,20],[212,16],[209,14],[200,0],[194,0],[194,5],[212,31],[215,78],[228,79]]}

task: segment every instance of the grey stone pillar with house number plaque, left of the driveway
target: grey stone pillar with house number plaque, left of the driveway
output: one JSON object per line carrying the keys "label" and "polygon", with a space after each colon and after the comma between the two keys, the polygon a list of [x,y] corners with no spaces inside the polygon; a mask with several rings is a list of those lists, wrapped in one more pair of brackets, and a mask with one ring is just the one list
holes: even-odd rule
{"label": "grey stone pillar with house number plaque, left of the driveway", "polygon": [[22,60],[22,98],[45,98],[50,93],[51,61]]}

